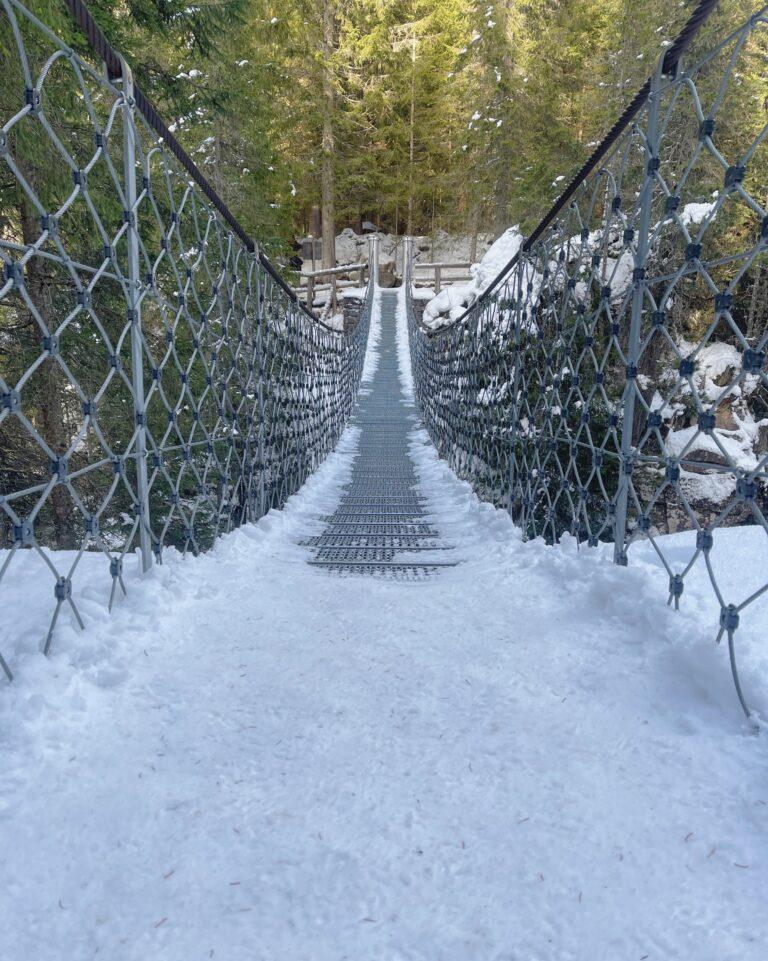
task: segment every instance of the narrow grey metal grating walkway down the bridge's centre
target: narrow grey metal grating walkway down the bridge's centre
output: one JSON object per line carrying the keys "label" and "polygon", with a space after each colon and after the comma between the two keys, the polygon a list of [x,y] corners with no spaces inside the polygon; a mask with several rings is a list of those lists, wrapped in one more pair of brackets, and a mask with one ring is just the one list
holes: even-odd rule
{"label": "narrow grey metal grating walkway down the bridge's centre", "polygon": [[310,564],[316,567],[414,580],[456,561],[432,526],[408,450],[408,434],[419,422],[400,386],[396,305],[397,294],[381,294],[378,366],[352,421],[361,429],[352,479],[336,511],[324,518],[325,531],[304,544],[314,548]]}

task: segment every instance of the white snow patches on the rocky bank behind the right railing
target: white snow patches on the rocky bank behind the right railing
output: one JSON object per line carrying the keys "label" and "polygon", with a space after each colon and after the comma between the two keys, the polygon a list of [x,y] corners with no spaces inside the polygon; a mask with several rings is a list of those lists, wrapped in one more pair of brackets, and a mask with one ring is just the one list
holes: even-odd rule
{"label": "white snow patches on the rocky bank behind the right railing", "polygon": [[[703,234],[717,218],[722,203],[717,192],[713,198],[706,203],[686,204],[677,218],[680,224],[687,229],[698,228]],[[657,224],[654,236],[662,235],[662,227],[675,229],[675,224],[672,220]],[[454,284],[437,296],[432,292],[432,296],[426,298],[423,291],[414,289],[415,298],[428,300],[423,323],[432,330],[438,330],[461,317],[515,256],[522,240],[517,226],[505,231],[480,263],[470,268],[473,280],[469,284]],[[555,290],[563,289],[564,265],[567,271],[575,272],[576,276],[582,278],[576,283],[573,298],[587,302],[590,285],[585,278],[588,278],[588,270],[592,269],[586,266],[587,255],[598,252],[601,254],[600,266],[590,283],[593,288],[595,283],[607,285],[612,302],[619,304],[632,285],[635,254],[631,247],[627,247],[618,230],[608,234],[593,231],[585,239],[572,237],[564,244],[563,264],[557,260],[549,262]],[[577,263],[578,271],[575,271],[574,265]],[[535,304],[542,291],[543,275],[529,266],[526,267],[526,280],[530,282],[528,296],[531,303]],[[504,284],[509,287],[508,280]],[[667,309],[673,306],[673,301],[674,297],[667,300]],[[645,394],[649,410],[660,416],[665,454],[685,458],[690,468],[684,467],[682,470],[683,493],[700,517],[706,517],[707,514],[715,516],[736,490],[737,478],[733,468],[745,472],[756,470],[768,449],[768,418],[760,418],[755,413],[755,396],[761,381],[757,375],[748,375],[743,381],[739,380],[743,364],[742,345],[733,342],[733,332],[727,324],[717,324],[706,334],[702,329],[701,336],[705,339],[701,343],[687,341],[679,330],[674,336],[675,350],[668,349],[660,355],[655,362],[653,378],[641,372],[638,384]],[[698,395],[698,404],[693,401],[691,383],[678,378],[681,358],[690,359],[694,364],[691,379]],[[570,365],[574,361],[574,358],[570,358],[566,363],[561,371],[563,378],[573,375],[574,370]],[[490,399],[488,395],[486,402]],[[717,425],[707,433],[699,429],[696,414],[700,406],[710,405],[717,410]],[[711,464],[712,467],[707,469],[703,464]],[[723,467],[730,470],[723,471]],[[669,511],[670,515],[679,513],[679,522],[687,524],[687,518],[674,505],[670,505]]]}

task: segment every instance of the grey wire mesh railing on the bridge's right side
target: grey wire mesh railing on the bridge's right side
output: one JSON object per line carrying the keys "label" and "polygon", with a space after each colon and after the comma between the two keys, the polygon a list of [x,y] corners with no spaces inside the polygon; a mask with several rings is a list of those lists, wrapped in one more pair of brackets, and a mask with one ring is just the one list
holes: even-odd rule
{"label": "grey wire mesh railing on the bridge's right side", "polygon": [[727,596],[716,544],[768,533],[768,17],[684,63],[712,6],[463,317],[409,297],[410,344],[434,443],[525,537],[650,542],[675,607],[704,566],[749,716],[734,637],[768,573]]}

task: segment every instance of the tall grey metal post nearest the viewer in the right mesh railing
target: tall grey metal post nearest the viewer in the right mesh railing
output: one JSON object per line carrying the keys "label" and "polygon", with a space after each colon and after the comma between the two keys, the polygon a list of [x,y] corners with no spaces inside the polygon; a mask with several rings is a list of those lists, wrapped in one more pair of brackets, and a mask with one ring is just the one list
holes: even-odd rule
{"label": "tall grey metal post nearest the viewer in the right mesh railing", "polygon": [[[645,167],[642,193],[640,195],[640,218],[637,231],[637,253],[635,268],[645,268],[648,259],[649,228],[651,218],[651,204],[653,201],[653,184],[655,167],[659,156],[659,91],[663,76],[664,56],[662,55],[651,78],[651,91],[648,100],[648,121],[646,139],[648,142],[648,160]],[[645,297],[644,278],[635,280],[632,291],[632,317],[629,328],[629,343],[627,344],[627,380],[622,397],[623,418],[621,424],[621,461],[619,464],[619,482],[616,490],[616,513],[614,515],[613,530],[613,560],[616,564],[626,565],[627,552],[625,542],[627,538],[627,512],[629,500],[629,479],[632,471],[632,433],[635,425],[635,406],[637,390],[637,365],[640,357],[640,333],[642,326],[643,299]]]}

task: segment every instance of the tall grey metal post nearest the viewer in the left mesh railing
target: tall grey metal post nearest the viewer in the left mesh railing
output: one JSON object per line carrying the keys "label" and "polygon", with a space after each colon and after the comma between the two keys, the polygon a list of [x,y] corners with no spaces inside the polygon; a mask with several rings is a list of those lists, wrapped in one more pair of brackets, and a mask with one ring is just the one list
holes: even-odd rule
{"label": "tall grey metal post nearest the viewer in the left mesh railing", "polygon": [[139,511],[141,569],[152,566],[151,518],[147,481],[147,406],[144,394],[144,351],[141,336],[141,298],[139,290],[139,211],[136,191],[136,124],[134,121],[133,74],[120,58],[123,72],[123,175],[128,238],[128,316],[131,318],[131,378],[136,417],[136,497]]}

